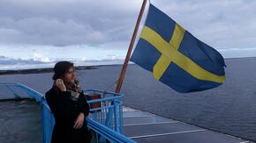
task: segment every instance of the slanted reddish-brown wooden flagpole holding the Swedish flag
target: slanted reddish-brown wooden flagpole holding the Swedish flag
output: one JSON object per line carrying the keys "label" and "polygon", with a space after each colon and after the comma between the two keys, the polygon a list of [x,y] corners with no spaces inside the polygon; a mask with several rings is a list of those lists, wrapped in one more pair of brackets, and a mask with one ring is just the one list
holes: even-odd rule
{"label": "slanted reddish-brown wooden flagpole holding the Swedish flag", "polygon": [[123,81],[124,81],[125,71],[127,69],[128,61],[130,60],[130,56],[132,54],[132,47],[133,47],[134,41],[136,39],[136,35],[137,35],[138,29],[139,29],[139,23],[140,23],[140,20],[142,18],[143,12],[145,10],[146,4],[147,4],[147,0],[143,0],[143,4],[141,5],[140,11],[139,11],[139,17],[137,18],[137,22],[136,22],[136,25],[135,25],[135,28],[134,28],[134,31],[133,31],[133,34],[132,34],[132,39],[131,39],[131,42],[130,42],[130,45],[129,45],[129,49],[127,51],[127,54],[126,54],[126,57],[125,57],[125,60],[124,60],[124,65],[123,65],[121,74],[120,74],[119,79],[118,79],[118,83],[117,83],[117,87],[116,87],[116,91],[115,91],[117,93],[120,92],[120,89],[121,89]]}

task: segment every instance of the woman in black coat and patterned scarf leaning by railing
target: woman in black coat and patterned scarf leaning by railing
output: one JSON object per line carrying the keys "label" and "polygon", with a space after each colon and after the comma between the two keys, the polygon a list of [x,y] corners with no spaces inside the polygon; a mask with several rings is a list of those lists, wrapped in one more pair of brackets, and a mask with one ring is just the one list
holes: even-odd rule
{"label": "woman in black coat and patterned scarf leaning by railing", "polygon": [[56,121],[51,143],[90,142],[91,134],[85,119],[89,107],[76,79],[73,63],[57,62],[52,79],[53,86],[45,96]]}

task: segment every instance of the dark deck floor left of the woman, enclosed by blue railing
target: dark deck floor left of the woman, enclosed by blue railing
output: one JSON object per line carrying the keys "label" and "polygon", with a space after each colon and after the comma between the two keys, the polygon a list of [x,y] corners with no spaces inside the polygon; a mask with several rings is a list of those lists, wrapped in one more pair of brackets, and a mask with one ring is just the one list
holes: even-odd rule
{"label": "dark deck floor left of the woman, enclosed by blue railing", "polygon": [[41,143],[40,111],[34,100],[0,101],[0,142]]}

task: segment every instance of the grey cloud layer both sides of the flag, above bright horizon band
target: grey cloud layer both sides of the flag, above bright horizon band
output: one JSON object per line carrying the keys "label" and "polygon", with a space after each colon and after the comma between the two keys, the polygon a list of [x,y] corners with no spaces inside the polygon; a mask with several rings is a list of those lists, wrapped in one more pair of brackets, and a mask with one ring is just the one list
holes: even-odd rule
{"label": "grey cloud layer both sides of the flag, above bright horizon band", "polygon": [[[99,46],[121,41],[129,45],[141,3],[137,0],[4,0],[0,2],[0,43]],[[152,0],[151,3],[210,46],[256,45],[253,0]]]}

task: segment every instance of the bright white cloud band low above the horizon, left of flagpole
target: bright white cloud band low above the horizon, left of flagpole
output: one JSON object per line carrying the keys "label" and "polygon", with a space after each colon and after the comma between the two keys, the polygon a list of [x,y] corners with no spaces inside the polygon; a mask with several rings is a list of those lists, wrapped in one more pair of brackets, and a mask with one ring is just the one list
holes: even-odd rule
{"label": "bright white cloud band low above the horizon, left of flagpole", "polygon": [[[115,46],[115,45],[110,45]],[[109,47],[104,45],[104,47]],[[72,61],[75,66],[124,63],[125,51],[92,46],[1,46],[0,70],[52,68],[57,61]],[[65,49],[65,50],[63,50]]]}

